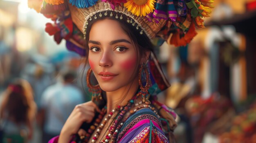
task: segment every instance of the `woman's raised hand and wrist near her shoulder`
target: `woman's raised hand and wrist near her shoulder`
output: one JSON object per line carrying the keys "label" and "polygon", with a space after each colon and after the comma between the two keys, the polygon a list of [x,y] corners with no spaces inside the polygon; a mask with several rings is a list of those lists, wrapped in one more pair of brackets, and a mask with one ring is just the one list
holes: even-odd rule
{"label": "woman's raised hand and wrist near her shoulder", "polygon": [[92,101],[77,105],[63,125],[58,143],[68,143],[72,135],[78,132],[82,123],[90,123],[95,116],[95,112],[100,111]]}

